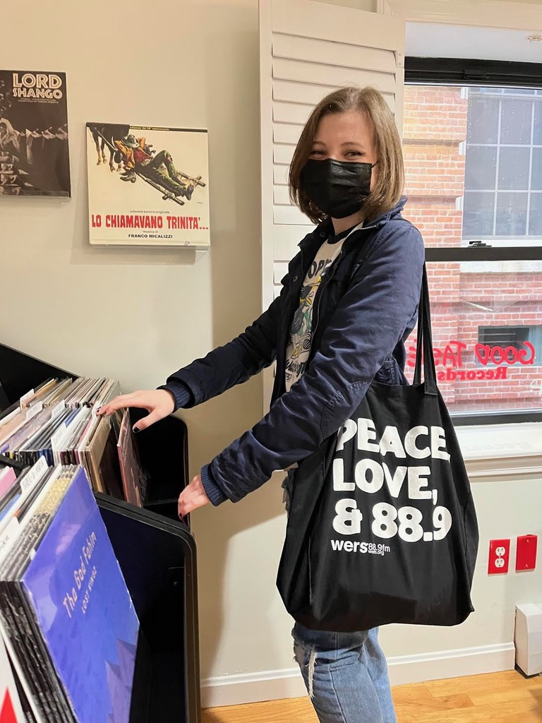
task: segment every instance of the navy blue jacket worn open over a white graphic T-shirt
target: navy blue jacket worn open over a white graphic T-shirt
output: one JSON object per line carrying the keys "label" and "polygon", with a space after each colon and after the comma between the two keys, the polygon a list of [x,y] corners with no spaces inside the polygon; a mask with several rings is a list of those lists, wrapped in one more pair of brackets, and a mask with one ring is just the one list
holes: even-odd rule
{"label": "navy blue jacket worn open over a white graphic T-shirt", "polygon": [[176,408],[195,406],[246,382],[275,360],[270,411],[202,469],[213,505],[238,502],[275,470],[321,448],[356,409],[371,381],[404,382],[404,342],[416,325],[424,261],[418,229],[401,202],[349,234],[314,300],[312,343],[304,375],[285,392],[285,355],[306,272],[323,223],[288,265],[282,291],[244,333],[168,378]]}

